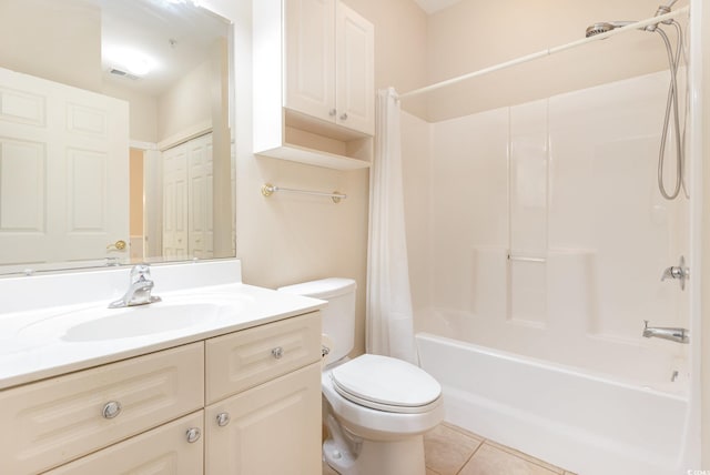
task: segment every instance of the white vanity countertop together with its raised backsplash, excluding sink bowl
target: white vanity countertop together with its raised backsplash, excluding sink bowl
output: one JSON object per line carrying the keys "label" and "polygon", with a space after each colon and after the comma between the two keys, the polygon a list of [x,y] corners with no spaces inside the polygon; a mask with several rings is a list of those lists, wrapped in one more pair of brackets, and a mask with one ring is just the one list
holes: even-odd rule
{"label": "white vanity countertop together with its raised backsplash, excluding sink bowl", "polygon": [[242,283],[237,260],[168,264],[151,267],[153,295],[163,299],[151,306],[217,302],[224,311],[204,323],[133,337],[83,342],[62,338],[65,327],[61,320],[72,319],[75,312],[87,314],[91,309],[105,315],[108,304],[125,292],[129,272],[129,267],[116,267],[0,280],[0,390],[275,322],[325,305],[315,299]]}

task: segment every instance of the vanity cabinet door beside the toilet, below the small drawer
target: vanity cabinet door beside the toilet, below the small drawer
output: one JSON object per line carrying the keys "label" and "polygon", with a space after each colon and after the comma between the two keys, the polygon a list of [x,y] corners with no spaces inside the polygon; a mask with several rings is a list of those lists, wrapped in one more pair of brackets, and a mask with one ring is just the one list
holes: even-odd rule
{"label": "vanity cabinet door beside the toilet, below the small drawer", "polygon": [[[220,414],[230,422],[217,424]],[[321,364],[205,410],[207,475],[304,475],[321,467]]]}

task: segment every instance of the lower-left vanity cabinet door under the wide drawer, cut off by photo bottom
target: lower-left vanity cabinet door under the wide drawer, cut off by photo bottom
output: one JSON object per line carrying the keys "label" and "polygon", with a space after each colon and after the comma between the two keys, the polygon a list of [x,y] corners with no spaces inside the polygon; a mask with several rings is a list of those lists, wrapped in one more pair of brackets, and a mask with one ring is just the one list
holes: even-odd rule
{"label": "lower-left vanity cabinet door under the wide drawer, cut off by photo bottom", "polygon": [[202,434],[202,411],[112,445],[45,475],[199,475],[204,437],[187,442],[187,431]]}

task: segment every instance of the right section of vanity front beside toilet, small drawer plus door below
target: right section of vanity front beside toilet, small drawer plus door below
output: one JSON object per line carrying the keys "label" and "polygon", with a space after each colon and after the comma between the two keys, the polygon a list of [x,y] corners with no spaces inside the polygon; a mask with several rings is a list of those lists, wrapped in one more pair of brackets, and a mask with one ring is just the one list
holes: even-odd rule
{"label": "right section of vanity front beside toilet, small drawer plus door below", "polygon": [[320,473],[320,314],[212,338],[205,350],[205,472]]}

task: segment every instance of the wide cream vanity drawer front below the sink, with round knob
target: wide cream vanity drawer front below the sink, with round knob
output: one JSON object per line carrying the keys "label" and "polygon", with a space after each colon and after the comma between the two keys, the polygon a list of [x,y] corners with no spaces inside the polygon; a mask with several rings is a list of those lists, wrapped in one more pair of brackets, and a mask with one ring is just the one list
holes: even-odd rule
{"label": "wide cream vanity drawer front below the sink, with round knob", "polygon": [[203,381],[201,342],[1,391],[0,472],[38,473],[200,410]]}

